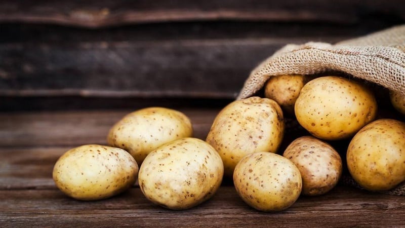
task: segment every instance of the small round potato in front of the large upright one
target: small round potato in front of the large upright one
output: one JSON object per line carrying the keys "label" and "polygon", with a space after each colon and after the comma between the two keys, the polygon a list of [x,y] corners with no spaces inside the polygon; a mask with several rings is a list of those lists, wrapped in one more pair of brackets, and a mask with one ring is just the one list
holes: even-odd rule
{"label": "small round potato in front of the large upright one", "polygon": [[289,208],[302,189],[301,174],[294,163],[268,152],[242,158],[235,167],[233,183],[242,200],[265,212]]}

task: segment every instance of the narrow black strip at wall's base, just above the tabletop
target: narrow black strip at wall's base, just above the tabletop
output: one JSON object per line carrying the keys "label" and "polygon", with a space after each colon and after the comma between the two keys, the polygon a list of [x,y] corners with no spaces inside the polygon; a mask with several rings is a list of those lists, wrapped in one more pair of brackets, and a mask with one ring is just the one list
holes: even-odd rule
{"label": "narrow black strip at wall's base, just above the tabletop", "polygon": [[148,106],[175,109],[224,107],[233,99],[204,98],[142,98],[142,97],[81,97],[81,96],[6,96],[0,97],[0,111],[55,111],[55,110],[136,110]]}

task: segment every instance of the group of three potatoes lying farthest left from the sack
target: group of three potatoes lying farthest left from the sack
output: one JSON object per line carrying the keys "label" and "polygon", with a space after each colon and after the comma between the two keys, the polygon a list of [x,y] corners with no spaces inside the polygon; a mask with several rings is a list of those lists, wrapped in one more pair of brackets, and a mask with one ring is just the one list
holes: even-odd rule
{"label": "group of three potatoes lying farthest left from the sack", "polygon": [[180,111],[140,109],[110,129],[110,146],[83,145],[62,155],[53,179],[63,193],[78,200],[105,199],[138,180],[153,203],[187,209],[210,199],[224,173],[217,151],[192,133],[189,118]]}

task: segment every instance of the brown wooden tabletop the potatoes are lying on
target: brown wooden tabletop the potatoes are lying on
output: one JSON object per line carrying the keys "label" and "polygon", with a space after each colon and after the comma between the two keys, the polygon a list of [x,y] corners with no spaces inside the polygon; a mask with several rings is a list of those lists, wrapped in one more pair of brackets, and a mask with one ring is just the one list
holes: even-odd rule
{"label": "brown wooden tabletop the potatoes are lying on", "polygon": [[[173,211],[150,203],[134,186],[110,199],[66,197],[52,169],[66,150],[106,143],[109,128],[130,110],[0,113],[0,226],[403,226],[405,197],[339,185],[319,197],[300,197],[289,209],[250,208],[224,180],[216,195],[194,208]],[[204,139],[218,108],[181,109]]]}

